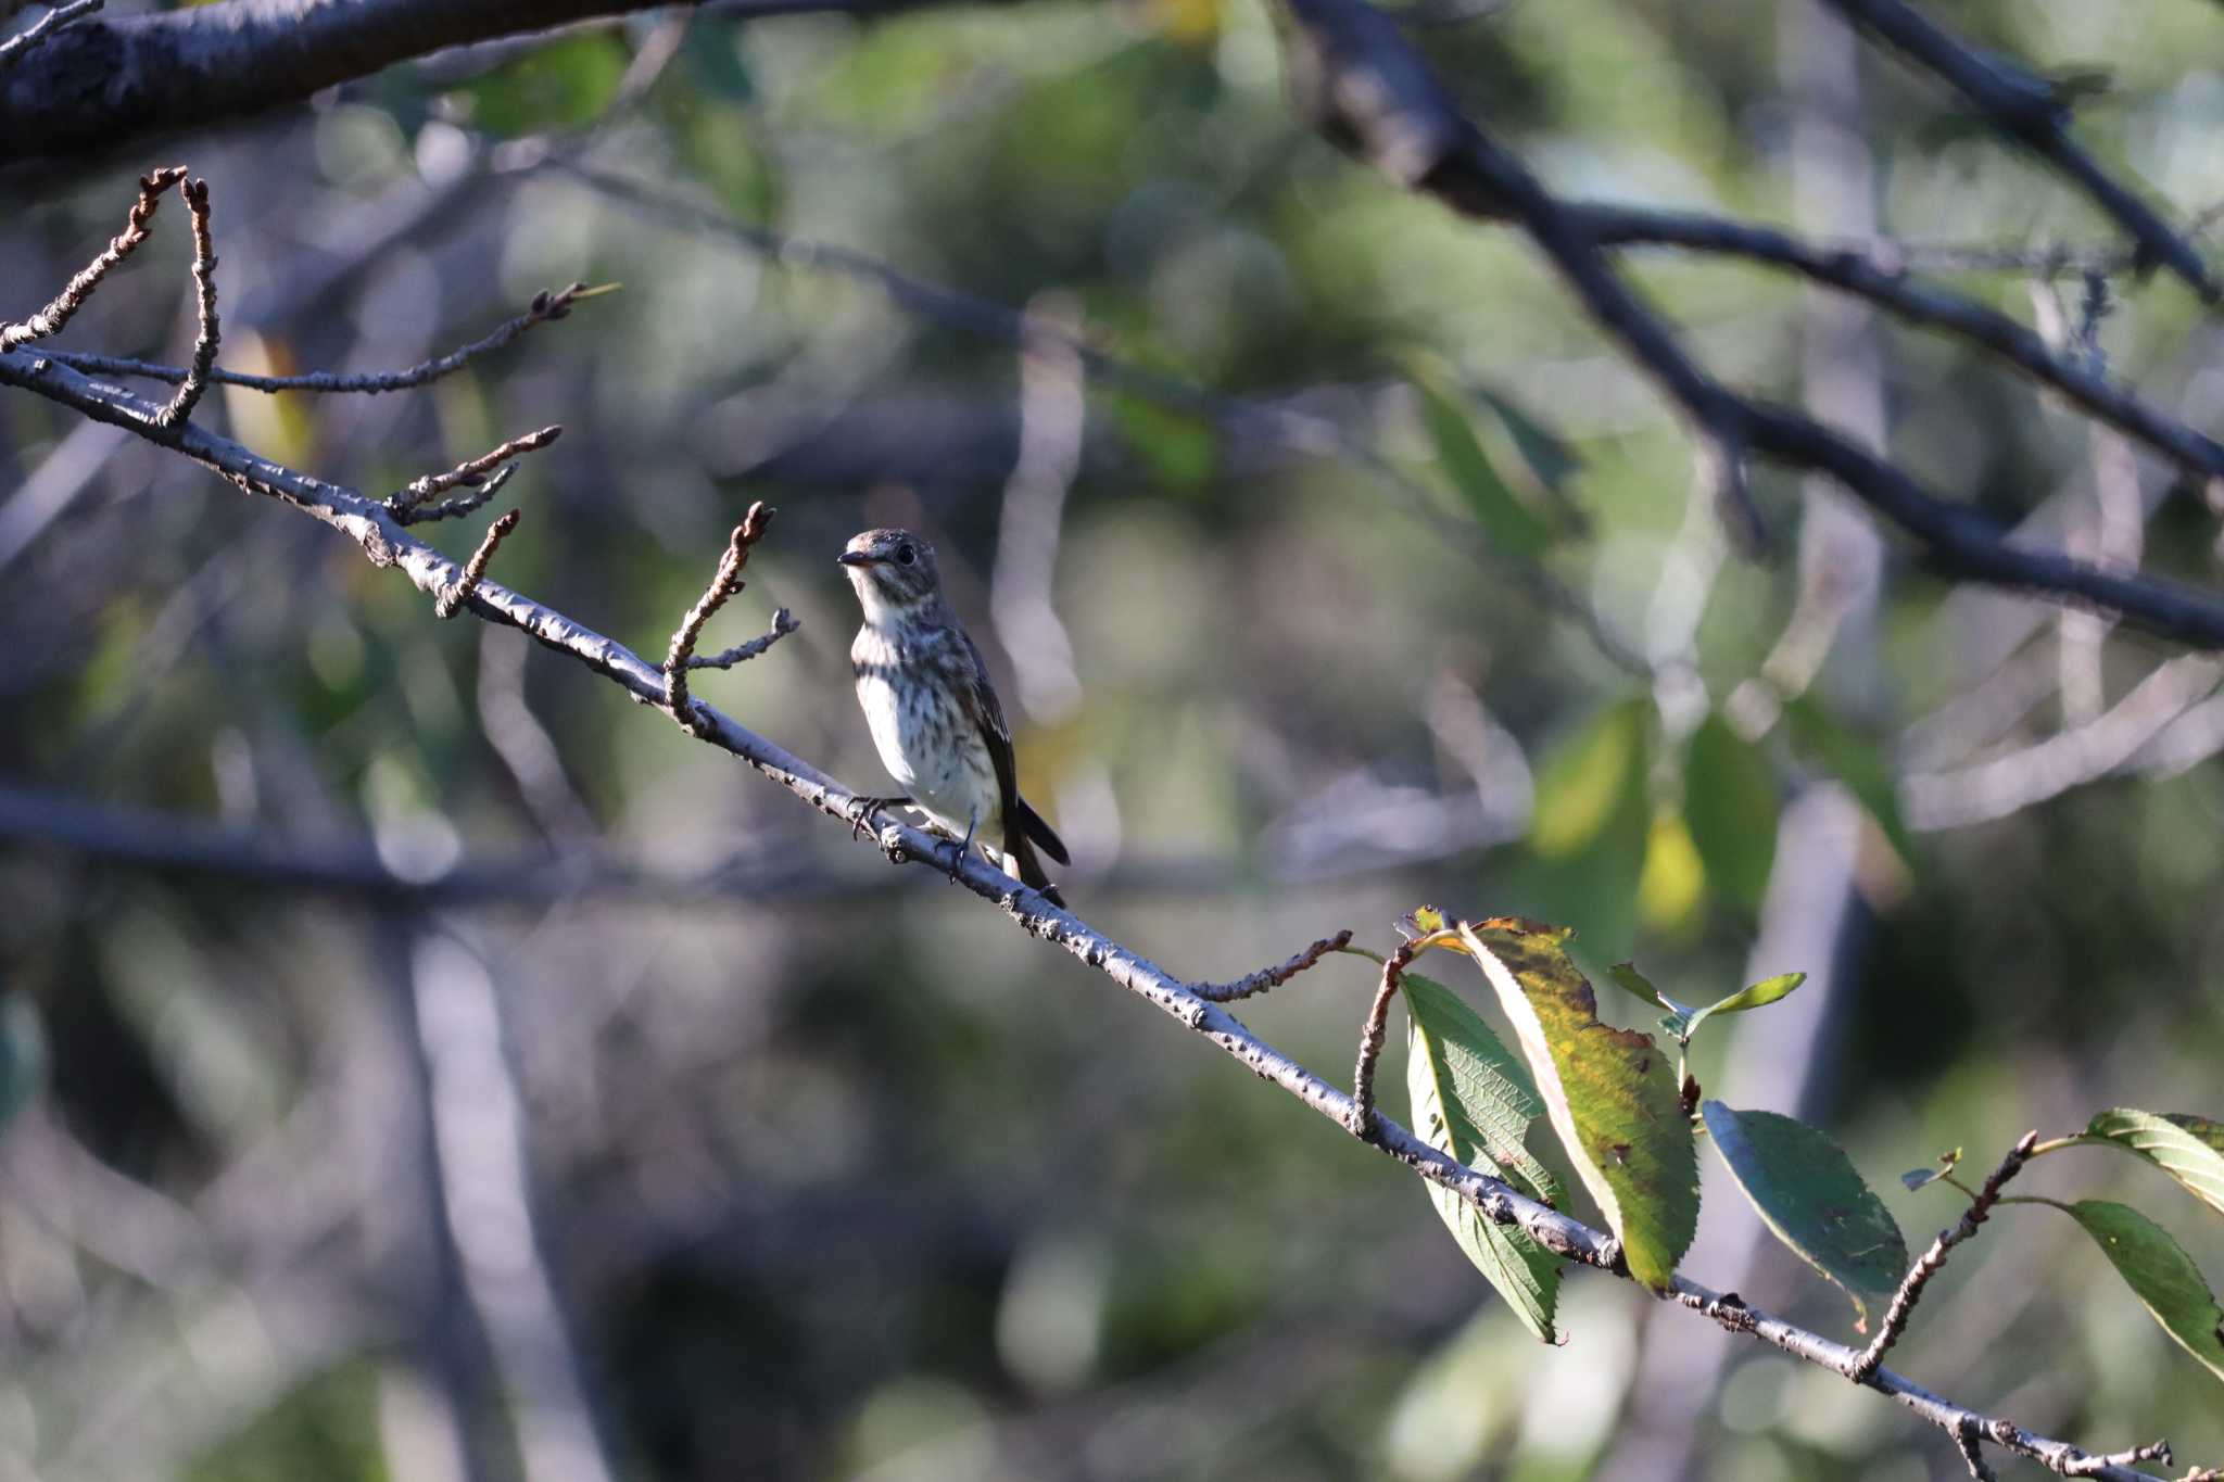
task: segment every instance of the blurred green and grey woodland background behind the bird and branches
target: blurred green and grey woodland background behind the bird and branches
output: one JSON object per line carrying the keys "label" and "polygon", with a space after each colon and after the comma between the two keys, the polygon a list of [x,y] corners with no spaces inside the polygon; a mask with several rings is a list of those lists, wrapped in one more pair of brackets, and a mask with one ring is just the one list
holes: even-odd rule
{"label": "blurred green and grey woodland background behind the bird and branches", "polygon": [[[1953,22],[2104,69],[2082,133],[2180,213],[2224,198],[2215,7]],[[1801,58],[1841,51],[1801,2],[1510,0],[1414,36],[1568,193],[2106,240],[1873,53],[1839,120],[1870,182],[1801,180]],[[2224,700],[2191,704],[2217,675],[2175,751],[1937,827],[1915,778],[1975,798],[1957,769],[2168,653],[1886,547],[1808,684],[1781,647],[1801,562],[1833,573],[1799,551],[1819,507],[1759,475],[1777,558],[1724,560],[1646,382],[1517,238],[1312,138],[1252,0],[647,16],[162,151],[214,187],[234,369],[400,367],[623,282],[425,391],[227,389],[214,418],[374,493],[563,422],[505,491],[496,575],[643,653],[770,500],[707,642],[774,604],[803,631],[696,689],[863,791],[832,558],[927,531],[1068,895],[1176,973],[1337,927],[1383,949],[1421,900],[1575,924],[1595,975],[1635,955],[1686,1000],[1810,971],[1699,1075],[1828,1126],[1917,1249],[1955,1195],[1893,1173],[1939,1149],[1990,1166],[2106,1104],[2224,1115],[2224,764],[2195,724]],[[0,311],[149,162],[0,182]],[[69,347],[189,351],[180,227]],[[1083,395],[1068,353],[810,242],[1245,400]],[[1797,284],[1635,271],[1735,384],[1813,391]],[[2017,318],[2048,291],[1953,280]],[[2111,369],[2215,431],[2217,320],[2115,287]],[[2088,542],[2128,487],[2133,551],[2144,522],[2146,564],[2215,587],[2215,518],[2166,471],[1955,344],[1875,333],[1910,469]],[[1408,1173],[311,522],[22,395],[0,478],[0,1475],[1959,1475],[1895,1406],[1624,1284],[1572,1278],[1570,1342],[1530,1344]],[[463,555],[471,524],[431,538]],[[1332,958],[1245,1020],[1341,1080],[1370,982]],[[1610,987],[1601,1009],[1650,1027]],[[2224,1280],[2215,1220],[2131,1160],[2028,1182],[2131,1200]],[[1735,1191],[1708,1182],[1701,1229],[1701,1280],[1850,1338]],[[2224,1458],[2215,1378],[2051,1211],[2006,1211],[1895,1364],[2095,1449]]]}

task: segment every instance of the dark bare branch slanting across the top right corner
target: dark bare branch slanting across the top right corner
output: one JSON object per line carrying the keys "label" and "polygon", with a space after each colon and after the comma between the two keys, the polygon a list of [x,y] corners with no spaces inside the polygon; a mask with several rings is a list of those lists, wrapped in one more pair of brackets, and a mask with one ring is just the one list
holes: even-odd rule
{"label": "dark bare branch slanting across the top right corner", "polygon": [[2139,244],[2135,267],[2166,262],[2204,300],[2224,298],[2224,289],[2217,287],[2200,253],[2071,138],[2064,127],[2068,104],[2051,82],[2004,58],[1979,56],[1902,0],[1830,0],[1830,7],[1944,80],[2002,133],[2075,180]]}

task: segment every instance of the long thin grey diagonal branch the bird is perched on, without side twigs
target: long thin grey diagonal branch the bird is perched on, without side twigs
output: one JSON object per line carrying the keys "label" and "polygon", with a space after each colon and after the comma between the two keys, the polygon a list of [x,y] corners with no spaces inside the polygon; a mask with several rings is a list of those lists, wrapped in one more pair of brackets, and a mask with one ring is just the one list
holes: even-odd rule
{"label": "long thin grey diagonal branch the bird is perched on, without side twigs", "polygon": [[[109,422],[140,433],[147,431],[153,413],[149,402],[133,398],[127,391],[87,380],[69,367],[29,356],[0,356],[0,384],[33,391],[98,422]],[[238,442],[218,438],[198,427],[182,427],[169,447],[216,471],[247,493],[280,500],[334,527],[354,540],[374,564],[403,571],[403,575],[407,575],[420,591],[438,595],[451,580],[454,564],[447,558],[405,531],[383,502],[369,500],[356,489],[327,484],[294,469],[274,464]],[[532,633],[549,649],[569,653],[589,671],[612,680],[629,695],[658,707],[667,704],[667,675],[641,655],[632,653],[625,644],[492,580],[480,584],[476,598],[478,600],[471,604],[471,613],[485,622],[498,622]],[[694,735],[707,744],[729,751],[803,800],[807,807],[825,813],[841,827],[847,827],[852,811],[861,802],[858,793],[845,789],[834,778],[787,753],[763,735],[756,735],[747,727],[721,713],[716,707],[696,700],[692,702],[689,715],[694,720]],[[907,858],[934,860],[936,869],[945,869],[943,860],[947,858],[947,849],[939,849],[936,840],[927,833],[890,820],[883,824],[881,838],[874,840],[874,844],[881,847],[890,840]],[[1357,1111],[1352,1098],[1337,1091],[1310,1069],[1254,1035],[1219,1004],[1197,998],[1183,980],[1174,978],[1148,958],[1136,955],[1112,938],[1094,931],[1081,918],[1052,907],[1039,893],[1012,893],[1005,873],[976,855],[959,860],[956,873],[965,889],[1003,909],[1005,915],[1010,915],[1012,922],[1030,935],[1052,942],[1065,953],[1088,962],[1121,989],[1134,993],[1192,1033],[1199,1033],[1217,1044],[1245,1069],[1281,1087],[1339,1126],[1346,1126],[1348,1131],[1352,1129]],[[1543,1249],[1601,1271],[1615,1269],[1619,1242],[1612,1235],[1519,1193],[1499,1178],[1461,1166],[1448,1153],[1430,1146],[1412,1129],[1399,1124],[1397,1120],[1377,1111],[1368,1120],[1368,1135],[1363,1140],[1368,1146],[1394,1158],[1417,1175],[1452,1191],[1483,1218],[1526,1231]],[[1735,1302],[1732,1298],[1715,1293],[1690,1278],[1675,1278],[1670,1295],[1681,1306],[1704,1313],[1735,1333],[1750,1335],[1790,1353],[1801,1362],[1830,1369],[1833,1373],[1846,1373],[1859,1360],[1859,1353],[1839,1342],[1784,1322],[1781,1318],[1773,1318],[1770,1313],[1744,1302]],[[2068,1442],[2024,1431],[2006,1420],[1977,1415],[1975,1411],[1924,1389],[1893,1369],[1879,1366],[1868,1378],[1868,1386],[1888,1395],[1895,1404],[1908,1409],[1933,1426],[1953,1431],[1966,1422],[1977,1424],[1986,1440],[2015,1451],[2017,1455],[2039,1460],[2057,1473],[2093,1455]],[[2148,1473],[2115,1464],[2106,1464],[2093,1475],[2106,1478],[2108,1482],[2153,1482]]]}

